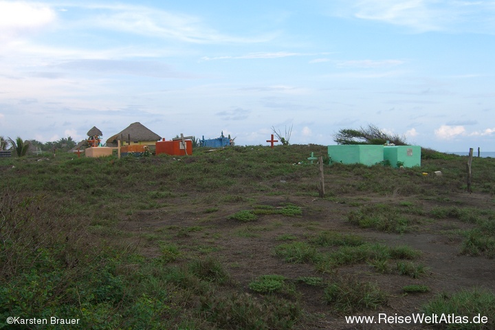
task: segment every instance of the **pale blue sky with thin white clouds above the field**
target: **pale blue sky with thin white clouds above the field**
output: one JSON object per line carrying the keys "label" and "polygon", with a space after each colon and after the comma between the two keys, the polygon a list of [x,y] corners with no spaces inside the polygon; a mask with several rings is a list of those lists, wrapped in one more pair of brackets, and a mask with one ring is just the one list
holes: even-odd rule
{"label": "pale blue sky with thin white clouds above the field", "polygon": [[495,151],[495,1],[0,0],[0,135]]}

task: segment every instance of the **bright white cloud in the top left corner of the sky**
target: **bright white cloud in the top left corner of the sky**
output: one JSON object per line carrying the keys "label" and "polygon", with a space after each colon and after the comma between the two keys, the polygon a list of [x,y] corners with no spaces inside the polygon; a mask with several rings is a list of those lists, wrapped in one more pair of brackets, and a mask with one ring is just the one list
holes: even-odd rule
{"label": "bright white cloud in the top left corner of the sky", "polygon": [[47,5],[0,1],[0,41],[36,32],[55,19],[54,10]]}

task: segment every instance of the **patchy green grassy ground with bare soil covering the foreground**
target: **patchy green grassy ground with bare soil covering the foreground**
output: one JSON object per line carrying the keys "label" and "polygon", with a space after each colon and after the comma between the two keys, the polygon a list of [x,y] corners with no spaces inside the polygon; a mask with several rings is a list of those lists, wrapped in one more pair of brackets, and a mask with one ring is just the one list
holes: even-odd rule
{"label": "patchy green grassy ground with bare soil covering the foreground", "polygon": [[472,193],[466,157],[326,163],[320,198],[311,152],[327,158],[293,145],[0,159],[0,328],[349,329],[345,316],[417,312],[495,327],[495,159],[474,159]]}

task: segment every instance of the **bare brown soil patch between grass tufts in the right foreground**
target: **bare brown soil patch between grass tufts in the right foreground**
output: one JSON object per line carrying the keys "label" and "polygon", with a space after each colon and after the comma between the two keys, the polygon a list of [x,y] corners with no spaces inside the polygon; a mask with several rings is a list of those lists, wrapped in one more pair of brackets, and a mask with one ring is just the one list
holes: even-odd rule
{"label": "bare brown soil patch between grass tufts in the right foreground", "polygon": [[[187,198],[168,199],[169,207],[143,210],[133,214],[126,221],[125,229],[140,231],[141,234],[167,233],[167,241],[181,246],[184,251],[214,256],[230,272],[234,281],[246,291],[249,291],[250,281],[265,274],[279,274],[291,279],[300,276],[319,276],[326,279],[331,277],[331,274],[322,274],[315,270],[314,265],[286,263],[281,257],[276,256],[274,249],[284,243],[277,239],[282,235],[293,235],[297,239],[304,240],[319,232],[331,230],[357,234],[370,242],[391,246],[408,245],[421,251],[421,256],[415,262],[428,267],[426,276],[421,278],[382,274],[366,264],[338,267],[335,270],[338,274],[354,274],[365,281],[377,283],[388,293],[386,307],[356,315],[377,316],[378,313],[386,313],[391,316],[408,316],[417,313],[423,303],[441,292],[454,292],[461,288],[472,287],[495,289],[493,259],[459,254],[462,239],[453,232],[456,229],[470,228],[472,225],[469,223],[463,223],[458,219],[432,219],[408,232],[396,234],[362,229],[347,221],[347,214],[362,205],[397,204],[408,201],[417,203],[418,199],[415,196],[395,194],[390,197],[368,195],[319,199],[305,196],[250,195],[243,196],[242,201],[214,205],[201,202],[206,200],[205,197],[201,193],[196,193],[188,195]],[[228,219],[228,215],[239,210],[252,209],[254,204],[278,207],[287,202],[303,208],[303,215],[300,217],[284,217],[281,214],[260,215],[256,221],[249,223]],[[420,203],[423,210],[445,204],[437,199],[421,199]],[[465,208],[493,208],[489,196],[476,193],[452,193],[448,205],[452,203]],[[197,230],[188,231],[188,228],[197,228]],[[142,250],[149,256],[155,256],[158,252],[153,250],[153,246]],[[410,284],[427,285],[430,292],[404,294],[402,287]],[[301,293],[300,303],[303,309],[311,315],[305,322],[304,329],[424,329],[421,325],[388,325],[388,327],[347,325],[343,315],[333,313],[325,304],[322,288],[298,285],[298,291]]]}

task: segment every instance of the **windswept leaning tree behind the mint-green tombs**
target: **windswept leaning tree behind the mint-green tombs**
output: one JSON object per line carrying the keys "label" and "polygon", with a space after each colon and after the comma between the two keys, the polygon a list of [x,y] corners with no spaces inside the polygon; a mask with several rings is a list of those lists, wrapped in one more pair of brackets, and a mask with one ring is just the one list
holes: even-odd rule
{"label": "windswept leaning tree behind the mint-green tombs", "polygon": [[407,144],[404,136],[385,133],[373,124],[360,129],[341,129],[333,135],[333,141],[337,144],[386,144],[387,141],[396,146]]}

